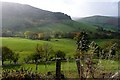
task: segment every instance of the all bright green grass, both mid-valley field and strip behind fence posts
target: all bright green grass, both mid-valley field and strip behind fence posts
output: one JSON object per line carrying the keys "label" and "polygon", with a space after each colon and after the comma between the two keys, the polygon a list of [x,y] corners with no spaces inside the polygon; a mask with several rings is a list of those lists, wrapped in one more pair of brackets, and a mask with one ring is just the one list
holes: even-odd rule
{"label": "all bright green grass, both mid-valley field and strip behind fence posts", "polygon": [[[57,40],[57,41],[56,41]],[[11,37],[3,37],[0,38],[2,41],[2,46],[7,46],[15,52],[20,54],[19,62],[23,62],[23,59],[28,55],[35,52],[35,47],[37,44],[45,44],[49,43],[53,46],[53,49],[62,50],[66,53],[66,56],[73,57],[75,54],[76,49],[76,41],[72,39],[52,39],[51,41],[43,41],[43,40],[30,40],[30,39],[23,39],[23,38],[11,38]],[[110,39],[98,39],[95,42],[103,46],[107,41]],[[25,69],[32,69],[32,72],[35,72],[35,64],[19,64],[19,65],[10,65],[4,66],[3,69],[17,69],[19,70],[21,67]],[[118,61],[110,61],[110,60],[101,60],[99,66],[101,72],[116,72],[118,69]],[[49,71],[55,73],[55,62],[50,63],[45,67],[44,64],[38,65],[38,71],[41,74],[45,74]],[[62,73],[65,74],[67,77],[78,77],[77,75],[77,67],[75,61],[73,62],[62,62]]]}

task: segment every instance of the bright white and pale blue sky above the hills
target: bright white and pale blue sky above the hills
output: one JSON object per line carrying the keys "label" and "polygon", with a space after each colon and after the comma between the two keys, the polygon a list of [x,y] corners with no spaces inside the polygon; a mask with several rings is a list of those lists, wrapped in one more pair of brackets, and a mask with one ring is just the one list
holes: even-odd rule
{"label": "bright white and pale blue sky above the hills", "polygon": [[93,15],[117,16],[119,0],[1,0],[28,4],[43,10],[63,12],[73,18]]}

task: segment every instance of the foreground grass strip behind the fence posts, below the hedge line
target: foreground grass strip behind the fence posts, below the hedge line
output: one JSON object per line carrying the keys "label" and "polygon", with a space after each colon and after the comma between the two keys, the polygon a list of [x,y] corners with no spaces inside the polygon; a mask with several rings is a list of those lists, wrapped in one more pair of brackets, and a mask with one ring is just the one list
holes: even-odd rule
{"label": "foreground grass strip behind the fence posts, below the hedge line", "polygon": [[[103,73],[103,72],[115,73],[116,71],[118,71],[118,65],[119,65],[118,61],[112,61],[112,60],[100,60],[100,61],[101,61],[100,66],[98,66],[99,69],[97,69],[97,71],[99,71],[99,74]],[[23,67],[24,69],[28,69],[29,71],[32,70],[32,72],[36,72],[35,64],[11,65],[11,66],[3,67],[3,69],[20,70],[21,67]],[[48,64],[47,67],[45,67],[44,64],[39,64],[37,72],[44,75],[44,74],[47,74],[47,72],[55,73],[55,69],[56,69],[55,62]],[[78,77],[75,61],[62,62],[61,71],[67,78],[77,78]],[[97,74],[97,75],[99,75],[99,74]]]}

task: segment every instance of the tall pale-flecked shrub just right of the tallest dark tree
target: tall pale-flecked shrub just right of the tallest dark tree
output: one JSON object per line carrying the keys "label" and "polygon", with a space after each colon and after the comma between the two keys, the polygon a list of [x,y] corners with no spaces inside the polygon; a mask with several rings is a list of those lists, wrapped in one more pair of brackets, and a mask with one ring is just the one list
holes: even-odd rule
{"label": "tall pale-flecked shrub just right of the tallest dark tree", "polygon": [[92,59],[94,57],[99,58],[100,55],[100,47],[94,42],[92,41],[89,45],[89,50],[87,51],[87,53],[90,55],[87,59],[86,59],[86,78],[90,78],[90,76],[92,78],[94,78],[94,71],[95,71],[95,64],[96,62],[98,62],[98,60],[96,62],[94,62]]}

